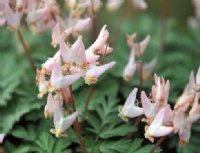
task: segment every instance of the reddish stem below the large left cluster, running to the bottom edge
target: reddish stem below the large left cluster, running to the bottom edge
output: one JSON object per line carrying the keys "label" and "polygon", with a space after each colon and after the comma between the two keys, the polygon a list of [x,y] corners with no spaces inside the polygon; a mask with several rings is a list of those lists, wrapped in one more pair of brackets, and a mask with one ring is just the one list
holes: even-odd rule
{"label": "reddish stem below the large left cluster, running to the bottom edge", "polygon": [[[70,98],[71,98],[72,108],[73,108],[73,111],[76,112],[76,106],[75,106],[75,101],[74,101],[74,96],[73,96],[73,91],[72,91],[72,85],[70,85],[69,91],[70,91]],[[84,143],[84,141],[83,141],[83,139],[81,137],[81,128],[80,128],[80,125],[78,123],[78,119],[77,118],[74,121],[74,128],[76,130],[76,135],[77,135],[77,137],[79,139],[79,142],[80,142],[80,147],[81,147],[82,153],[87,153],[86,147],[85,147],[85,143]]]}

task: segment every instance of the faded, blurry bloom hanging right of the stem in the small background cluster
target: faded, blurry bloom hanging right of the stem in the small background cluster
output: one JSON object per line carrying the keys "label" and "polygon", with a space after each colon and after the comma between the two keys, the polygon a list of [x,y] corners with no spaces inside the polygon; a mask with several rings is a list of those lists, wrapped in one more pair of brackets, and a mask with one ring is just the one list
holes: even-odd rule
{"label": "faded, blurry bloom hanging right of the stem in the small background cluster", "polygon": [[142,78],[144,80],[150,80],[151,79],[153,70],[156,66],[156,63],[157,63],[157,59],[154,58],[150,63],[144,64],[143,69],[142,69]]}

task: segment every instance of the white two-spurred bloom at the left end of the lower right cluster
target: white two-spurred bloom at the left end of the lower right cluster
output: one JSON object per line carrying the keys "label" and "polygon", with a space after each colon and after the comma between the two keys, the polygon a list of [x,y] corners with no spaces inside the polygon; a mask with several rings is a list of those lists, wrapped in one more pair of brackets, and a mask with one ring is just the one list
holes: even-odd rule
{"label": "white two-spurred bloom at the left end of the lower right cluster", "polygon": [[119,108],[119,116],[126,122],[128,118],[134,118],[144,113],[143,108],[140,108],[136,104],[137,90],[137,88],[134,88],[125,101],[124,106]]}

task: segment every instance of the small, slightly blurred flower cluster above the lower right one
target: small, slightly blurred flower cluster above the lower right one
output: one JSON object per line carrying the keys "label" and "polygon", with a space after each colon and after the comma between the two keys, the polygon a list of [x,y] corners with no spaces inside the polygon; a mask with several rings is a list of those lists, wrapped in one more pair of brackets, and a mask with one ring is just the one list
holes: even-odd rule
{"label": "small, slightly blurred flower cluster above the lower right one", "polygon": [[[137,67],[142,64],[142,78],[144,80],[149,80],[152,76],[152,72],[154,70],[154,67],[157,63],[157,59],[154,58],[150,63],[142,63],[141,57],[147,48],[150,36],[146,36],[144,40],[142,40],[139,43],[135,43],[137,34],[133,33],[132,35],[127,35],[127,44],[130,48],[130,55],[128,63],[124,69],[123,78],[126,81],[130,81],[132,76],[134,75]],[[135,58],[138,58],[138,61],[136,61]]]}

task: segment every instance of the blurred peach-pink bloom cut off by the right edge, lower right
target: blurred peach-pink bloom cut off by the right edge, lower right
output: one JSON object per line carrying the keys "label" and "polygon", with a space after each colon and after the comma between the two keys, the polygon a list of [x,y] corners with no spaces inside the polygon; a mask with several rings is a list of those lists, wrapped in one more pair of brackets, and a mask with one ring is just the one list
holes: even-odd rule
{"label": "blurred peach-pink bloom cut off by the right edge, lower right", "polygon": [[199,93],[196,93],[193,103],[190,101],[175,110],[174,132],[179,134],[179,143],[186,144],[191,135],[191,127],[200,118]]}

